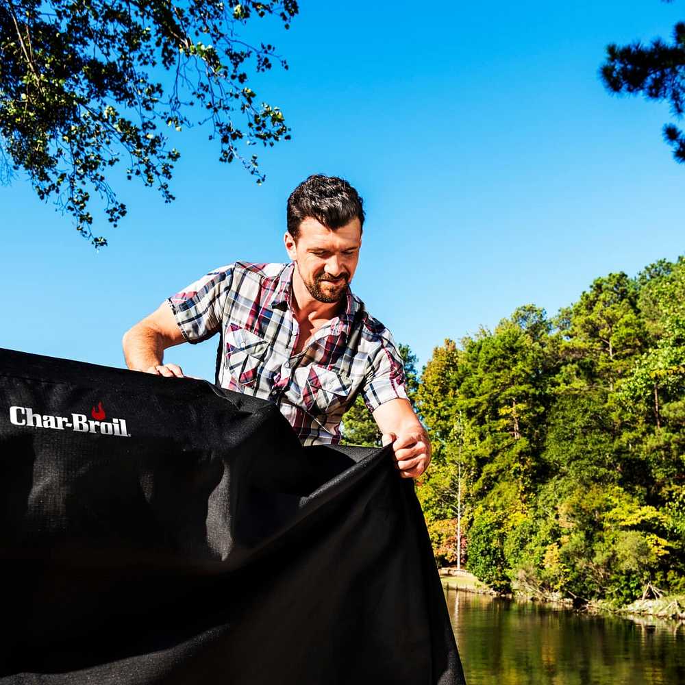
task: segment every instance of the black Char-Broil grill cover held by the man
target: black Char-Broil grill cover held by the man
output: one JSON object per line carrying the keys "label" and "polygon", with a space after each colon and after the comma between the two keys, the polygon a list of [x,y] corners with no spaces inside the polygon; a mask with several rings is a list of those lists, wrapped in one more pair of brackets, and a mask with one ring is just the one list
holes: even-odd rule
{"label": "black Char-Broil grill cover held by the man", "polygon": [[464,682],[390,448],[203,381],[0,350],[0,593],[3,684]]}

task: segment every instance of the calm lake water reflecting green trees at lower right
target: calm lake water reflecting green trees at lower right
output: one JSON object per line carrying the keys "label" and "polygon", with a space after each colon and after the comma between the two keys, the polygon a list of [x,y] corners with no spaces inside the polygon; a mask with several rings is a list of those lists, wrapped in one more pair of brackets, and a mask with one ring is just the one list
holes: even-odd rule
{"label": "calm lake water reflecting green trees at lower right", "polygon": [[466,685],[685,685],[685,625],[445,590]]}

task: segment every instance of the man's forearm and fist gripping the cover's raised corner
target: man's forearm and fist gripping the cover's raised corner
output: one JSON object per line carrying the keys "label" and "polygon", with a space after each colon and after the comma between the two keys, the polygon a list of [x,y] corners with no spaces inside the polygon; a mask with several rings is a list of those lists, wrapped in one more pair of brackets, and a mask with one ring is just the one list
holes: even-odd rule
{"label": "man's forearm and fist gripping the cover's raised corner", "polygon": [[395,462],[403,478],[419,477],[430,463],[430,441],[408,399],[379,405],[373,418],[383,434],[383,444],[393,443]]}

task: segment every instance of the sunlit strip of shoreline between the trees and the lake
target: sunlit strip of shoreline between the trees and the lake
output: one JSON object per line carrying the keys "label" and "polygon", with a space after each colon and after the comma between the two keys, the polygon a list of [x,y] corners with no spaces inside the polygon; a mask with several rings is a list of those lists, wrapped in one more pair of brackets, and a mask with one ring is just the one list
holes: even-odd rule
{"label": "sunlit strip of shoreline between the trees and the lake", "polygon": [[606,606],[602,602],[588,602],[581,607],[573,605],[571,599],[549,599],[543,597],[531,597],[527,593],[516,592],[503,595],[496,593],[482,583],[469,571],[456,571],[456,569],[438,569],[440,582],[445,590],[461,590],[462,592],[476,595],[490,595],[490,597],[502,597],[516,601],[529,601],[549,605],[563,606],[577,612],[591,612],[597,614],[612,614],[630,619],[636,623],[663,623],[665,627],[685,627],[685,595],[669,595],[660,599],[637,599],[636,601],[619,608]]}

